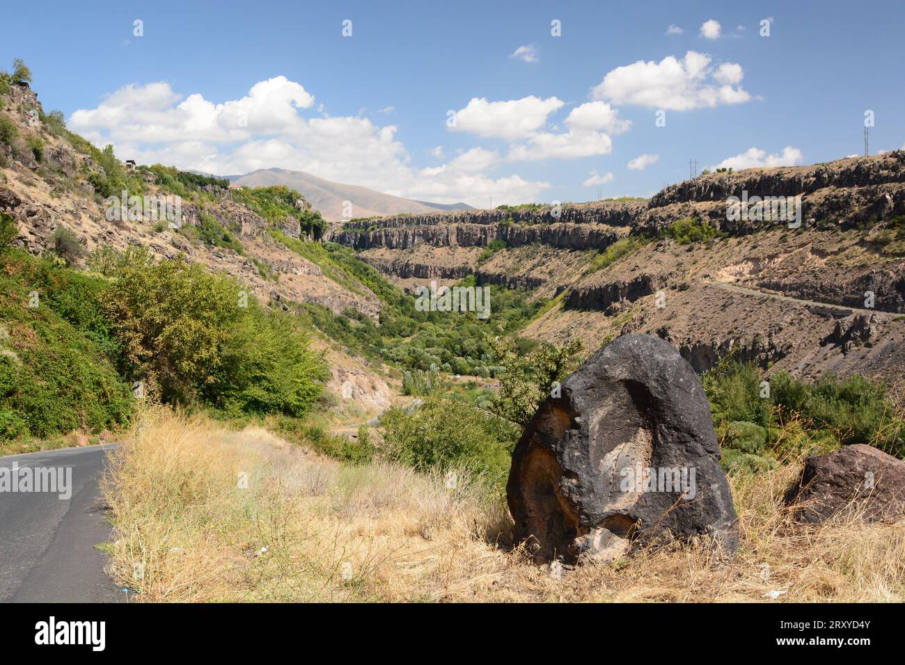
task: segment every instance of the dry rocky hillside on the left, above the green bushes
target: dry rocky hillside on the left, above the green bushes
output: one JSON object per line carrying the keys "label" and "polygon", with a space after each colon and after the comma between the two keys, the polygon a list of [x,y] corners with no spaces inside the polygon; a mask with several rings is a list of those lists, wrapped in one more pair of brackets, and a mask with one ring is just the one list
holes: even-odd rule
{"label": "dry rocky hillside on the left, above the green bushes", "polygon": [[[281,242],[278,233],[291,240],[305,236],[300,220],[310,204],[256,210],[248,195],[230,192],[214,178],[196,176],[195,184],[162,166],[130,171],[112,153],[44,116],[32,90],[14,88],[0,98],[0,110],[14,127],[13,138],[0,142],[0,212],[13,215],[18,244],[28,252],[47,250],[52,234],[64,227],[76,233],[84,253],[142,246],[159,257],[182,254],[241,280],[265,302],[309,302],[335,313],[352,308],[376,318],[380,300],[367,287]],[[138,209],[110,219],[107,197],[121,198],[122,188],[138,197]],[[178,219],[142,207],[160,196],[177,198]]]}

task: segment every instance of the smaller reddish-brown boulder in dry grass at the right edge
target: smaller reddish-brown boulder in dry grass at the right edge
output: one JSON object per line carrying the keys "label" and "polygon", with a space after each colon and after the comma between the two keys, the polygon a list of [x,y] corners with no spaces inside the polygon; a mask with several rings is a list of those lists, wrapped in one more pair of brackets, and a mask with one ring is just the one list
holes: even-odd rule
{"label": "smaller reddish-brown boulder in dry grass at the right edge", "polygon": [[830,518],[864,522],[905,516],[905,461],[864,443],[814,455],[786,492],[786,504],[799,522]]}

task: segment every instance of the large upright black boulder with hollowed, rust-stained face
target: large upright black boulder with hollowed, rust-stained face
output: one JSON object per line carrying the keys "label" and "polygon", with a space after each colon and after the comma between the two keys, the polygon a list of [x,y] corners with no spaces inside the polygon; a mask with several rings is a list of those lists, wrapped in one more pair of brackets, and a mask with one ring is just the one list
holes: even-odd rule
{"label": "large upright black boulder with hollowed, rust-stained face", "polygon": [[738,545],[700,379],[657,337],[618,337],[540,404],[506,491],[538,563],[612,561],[666,535]]}

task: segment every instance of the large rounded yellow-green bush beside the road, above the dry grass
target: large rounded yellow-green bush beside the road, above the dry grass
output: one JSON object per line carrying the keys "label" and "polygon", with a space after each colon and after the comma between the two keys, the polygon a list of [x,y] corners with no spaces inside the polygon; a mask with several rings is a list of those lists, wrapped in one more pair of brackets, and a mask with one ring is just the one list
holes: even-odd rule
{"label": "large rounded yellow-green bush beside the road, above the dry grass", "polygon": [[104,294],[120,364],[167,403],[299,416],[327,377],[300,321],[270,313],[238,284],[181,259],[132,252]]}

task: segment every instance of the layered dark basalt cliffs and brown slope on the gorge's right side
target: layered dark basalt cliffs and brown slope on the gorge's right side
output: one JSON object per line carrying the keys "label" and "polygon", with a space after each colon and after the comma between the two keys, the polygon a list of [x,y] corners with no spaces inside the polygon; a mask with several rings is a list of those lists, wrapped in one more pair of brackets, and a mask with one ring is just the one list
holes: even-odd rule
{"label": "layered dark basalt cliffs and brown slope on the gorge's right side", "polygon": [[[699,372],[734,353],[895,387],[905,374],[903,215],[905,153],[896,151],[700,176],[650,200],[353,220],[331,240],[407,290],[474,275],[557,298],[530,337],[581,337],[593,350],[642,332]],[[673,240],[671,225],[689,219],[717,233]],[[628,236],[639,242],[607,252]]]}

